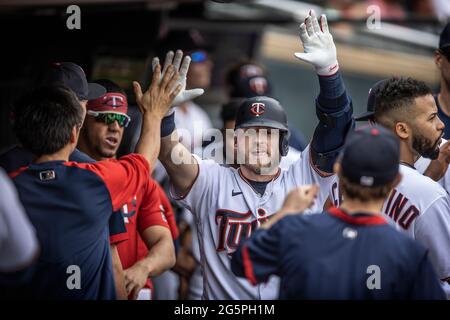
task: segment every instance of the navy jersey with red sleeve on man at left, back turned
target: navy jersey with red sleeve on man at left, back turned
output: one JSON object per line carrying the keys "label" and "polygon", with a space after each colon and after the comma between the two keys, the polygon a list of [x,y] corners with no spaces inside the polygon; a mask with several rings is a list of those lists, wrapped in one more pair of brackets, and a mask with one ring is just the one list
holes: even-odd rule
{"label": "navy jersey with red sleeve on man at left, back turned", "polygon": [[41,245],[21,298],[115,299],[108,220],[148,183],[145,158],[50,161],[10,174]]}

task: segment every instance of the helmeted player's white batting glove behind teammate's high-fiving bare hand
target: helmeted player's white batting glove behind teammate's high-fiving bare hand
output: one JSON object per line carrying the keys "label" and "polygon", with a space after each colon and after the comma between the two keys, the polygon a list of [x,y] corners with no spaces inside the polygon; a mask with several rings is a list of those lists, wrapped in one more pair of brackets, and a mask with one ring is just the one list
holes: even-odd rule
{"label": "helmeted player's white batting glove behind teammate's high-fiving bare hand", "polygon": [[[183,63],[181,63],[181,60],[183,60]],[[153,58],[152,61],[152,70],[155,72],[155,68],[159,63],[158,57]],[[175,86],[181,84],[181,91],[180,93],[175,97],[172,103],[172,107],[180,105],[183,102],[193,100],[199,96],[201,96],[205,90],[203,89],[192,89],[192,90],[186,90],[186,76],[189,70],[189,65],[191,64],[191,57],[185,56],[183,59],[183,51],[177,50],[174,58],[173,51],[169,51],[166,54],[166,59],[164,61],[164,67],[162,69],[162,74],[160,75],[160,81],[164,74],[167,71],[167,68],[170,64],[173,64],[175,70],[178,70],[180,72],[180,79],[175,83]],[[171,108],[167,115],[171,114],[173,112],[173,108]]]}

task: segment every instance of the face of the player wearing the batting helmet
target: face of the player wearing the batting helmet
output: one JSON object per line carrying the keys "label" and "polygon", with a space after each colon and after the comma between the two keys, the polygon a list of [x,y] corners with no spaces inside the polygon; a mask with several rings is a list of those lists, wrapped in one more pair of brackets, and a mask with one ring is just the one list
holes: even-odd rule
{"label": "face of the player wearing the batting helmet", "polygon": [[264,168],[277,168],[280,161],[279,130],[267,127],[238,129],[237,151],[238,164],[256,174],[264,174]]}

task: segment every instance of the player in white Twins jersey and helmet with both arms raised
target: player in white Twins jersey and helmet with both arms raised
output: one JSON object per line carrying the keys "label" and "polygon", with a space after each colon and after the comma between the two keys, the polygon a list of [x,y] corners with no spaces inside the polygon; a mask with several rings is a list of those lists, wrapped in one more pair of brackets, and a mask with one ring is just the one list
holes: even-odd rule
{"label": "player in white Twins jersey and helmet with both arms raised", "polygon": [[[193,213],[197,225],[204,299],[277,298],[276,280],[253,286],[238,279],[230,270],[230,254],[280,209],[294,187],[319,185],[321,191],[310,210],[321,211],[335,181],[332,165],[354,127],[351,100],[338,71],[325,16],[319,23],[311,12],[300,26],[300,39],[305,52],[295,56],[312,64],[319,78],[316,112],[320,121],[311,144],[287,170],[278,166],[288,151],[287,116],[272,98],[246,99],[238,110],[236,129],[243,135],[237,134],[236,147],[244,159],[238,160],[238,169],[192,155],[178,141],[173,113],[161,125],[159,159],[171,178],[172,195]],[[181,63],[182,52],[177,51],[172,62],[173,56],[168,53],[165,65],[173,63],[176,69],[181,65],[183,76],[189,57]]]}

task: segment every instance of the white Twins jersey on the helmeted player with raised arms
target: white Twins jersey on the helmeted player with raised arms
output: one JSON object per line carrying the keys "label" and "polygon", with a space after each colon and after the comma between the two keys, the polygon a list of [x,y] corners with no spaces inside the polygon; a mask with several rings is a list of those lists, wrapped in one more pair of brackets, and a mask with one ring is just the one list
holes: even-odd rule
{"label": "white Twins jersey on the helmeted player with raised arms", "polygon": [[198,177],[180,201],[196,219],[204,276],[203,298],[277,298],[278,278],[253,286],[232,273],[230,254],[242,239],[249,237],[252,230],[281,208],[287,193],[296,186],[320,185],[319,195],[309,212],[321,212],[335,176],[322,177],[315,170],[307,147],[300,159],[288,169],[279,170],[265,193],[259,195],[239,169],[221,166],[213,160],[198,161]]}

